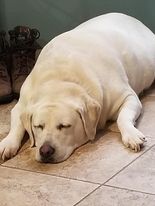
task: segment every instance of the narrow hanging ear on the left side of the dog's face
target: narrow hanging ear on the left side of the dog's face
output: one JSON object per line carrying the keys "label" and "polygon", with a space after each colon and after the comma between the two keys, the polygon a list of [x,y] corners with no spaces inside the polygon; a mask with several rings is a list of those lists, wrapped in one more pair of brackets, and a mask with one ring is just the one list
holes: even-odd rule
{"label": "narrow hanging ear on the left side of the dog's face", "polygon": [[32,130],[32,118],[33,114],[29,111],[23,112],[21,114],[21,121],[23,123],[23,126],[25,130],[28,132],[29,137],[30,137],[30,142],[31,142],[31,147],[35,146],[35,138],[34,138],[34,133]]}

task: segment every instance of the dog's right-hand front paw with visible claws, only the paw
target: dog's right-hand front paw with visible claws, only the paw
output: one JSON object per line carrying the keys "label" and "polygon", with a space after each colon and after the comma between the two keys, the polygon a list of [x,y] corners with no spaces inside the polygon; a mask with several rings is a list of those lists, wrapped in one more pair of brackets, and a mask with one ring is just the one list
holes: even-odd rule
{"label": "dog's right-hand front paw with visible claws, only the paw", "polygon": [[135,152],[139,152],[144,142],[146,142],[146,138],[138,129],[133,127],[122,136],[122,141],[126,147],[131,148]]}

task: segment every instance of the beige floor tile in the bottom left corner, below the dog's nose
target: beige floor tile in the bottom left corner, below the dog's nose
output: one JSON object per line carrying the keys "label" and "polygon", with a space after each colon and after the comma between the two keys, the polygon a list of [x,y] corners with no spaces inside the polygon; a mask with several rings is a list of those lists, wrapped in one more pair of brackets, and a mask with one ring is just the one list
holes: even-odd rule
{"label": "beige floor tile in the bottom left corner, below the dog's nose", "polygon": [[0,166],[1,206],[72,206],[97,186]]}

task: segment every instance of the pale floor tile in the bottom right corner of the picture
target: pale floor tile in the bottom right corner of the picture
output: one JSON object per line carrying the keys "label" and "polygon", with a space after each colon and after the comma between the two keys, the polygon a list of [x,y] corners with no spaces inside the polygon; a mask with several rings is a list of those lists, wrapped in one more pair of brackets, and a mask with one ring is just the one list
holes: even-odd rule
{"label": "pale floor tile in the bottom right corner of the picture", "polygon": [[77,206],[154,206],[155,196],[110,187],[101,187]]}

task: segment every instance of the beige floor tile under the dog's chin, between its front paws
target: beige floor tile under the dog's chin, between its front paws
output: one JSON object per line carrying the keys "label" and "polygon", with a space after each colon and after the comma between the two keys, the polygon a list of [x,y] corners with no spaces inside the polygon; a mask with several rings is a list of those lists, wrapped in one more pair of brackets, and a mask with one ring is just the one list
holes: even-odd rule
{"label": "beige floor tile under the dog's chin, between its front paws", "polygon": [[[152,142],[147,144],[144,150]],[[144,151],[134,153],[123,146],[120,134],[107,133],[93,144],[88,143],[79,148],[67,161],[59,164],[38,163],[34,160],[34,152],[35,148],[27,149],[4,165],[103,183]]]}

